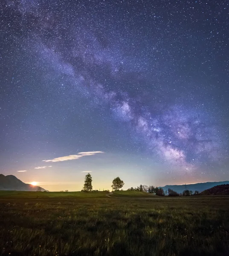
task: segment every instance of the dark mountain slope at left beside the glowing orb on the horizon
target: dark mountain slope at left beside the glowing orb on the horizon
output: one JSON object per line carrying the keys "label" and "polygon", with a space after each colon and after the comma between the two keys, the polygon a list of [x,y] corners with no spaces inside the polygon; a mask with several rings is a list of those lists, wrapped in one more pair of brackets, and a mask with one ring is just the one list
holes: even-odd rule
{"label": "dark mountain slope at left beside the glowing orb on the horizon", "polygon": [[[38,186],[26,184],[14,175],[0,174],[0,190],[16,190],[16,191],[37,191]],[[41,191],[46,191],[41,188]]]}

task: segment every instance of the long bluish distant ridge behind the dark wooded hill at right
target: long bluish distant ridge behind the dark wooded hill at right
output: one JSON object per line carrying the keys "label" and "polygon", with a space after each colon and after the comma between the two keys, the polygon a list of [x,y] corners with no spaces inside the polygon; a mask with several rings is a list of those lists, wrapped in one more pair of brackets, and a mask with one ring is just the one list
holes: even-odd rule
{"label": "long bluish distant ridge behind the dark wooded hill at right", "polygon": [[168,189],[173,189],[174,191],[178,192],[178,193],[182,193],[186,188],[188,190],[192,190],[192,191],[199,191],[202,192],[206,189],[210,189],[213,186],[218,186],[218,185],[223,185],[223,184],[229,184],[229,181],[216,181],[216,182],[205,182],[205,183],[195,183],[195,184],[187,184],[187,185],[166,185],[163,187],[160,187],[162,189],[168,190]]}

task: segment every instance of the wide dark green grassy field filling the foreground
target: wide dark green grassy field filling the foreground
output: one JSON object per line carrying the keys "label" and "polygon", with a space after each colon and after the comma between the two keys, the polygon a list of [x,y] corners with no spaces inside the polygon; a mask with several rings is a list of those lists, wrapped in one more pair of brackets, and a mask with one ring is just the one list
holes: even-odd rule
{"label": "wide dark green grassy field filling the foreground", "polygon": [[0,192],[0,255],[226,256],[228,212],[229,197]]}

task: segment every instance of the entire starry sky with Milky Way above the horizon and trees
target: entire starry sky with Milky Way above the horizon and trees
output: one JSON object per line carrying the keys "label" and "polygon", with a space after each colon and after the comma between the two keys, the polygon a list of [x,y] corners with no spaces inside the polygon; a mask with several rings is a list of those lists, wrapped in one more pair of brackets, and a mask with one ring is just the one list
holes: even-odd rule
{"label": "entire starry sky with Milky Way above the horizon and trees", "polygon": [[1,0],[0,172],[228,180],[228,28],[227,0]]}

